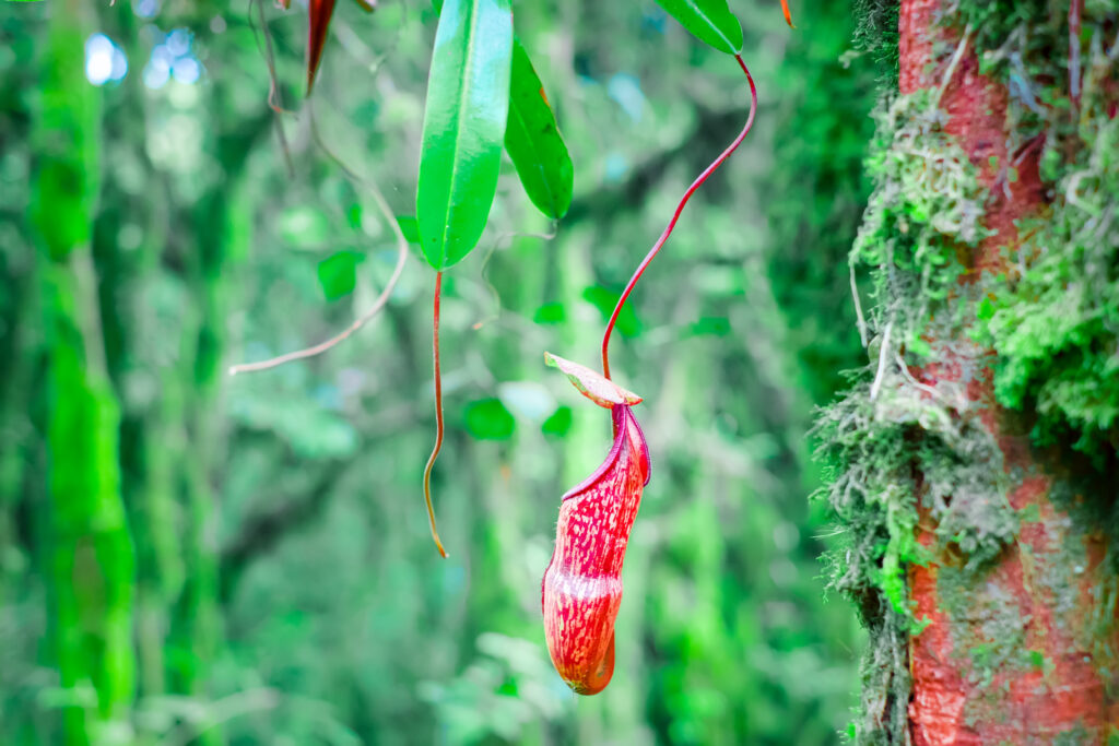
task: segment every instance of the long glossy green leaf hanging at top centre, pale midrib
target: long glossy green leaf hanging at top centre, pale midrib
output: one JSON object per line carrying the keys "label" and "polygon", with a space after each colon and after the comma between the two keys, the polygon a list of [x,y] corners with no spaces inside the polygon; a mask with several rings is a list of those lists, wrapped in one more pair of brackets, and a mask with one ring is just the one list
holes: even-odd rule
{"label": "long glossy green leaf hanging at top centre, pale midrib", "polygon": [[446,0],[427,77],[416,223],[436,271],[466,257],[486,227],[509,116],[509,0]]}

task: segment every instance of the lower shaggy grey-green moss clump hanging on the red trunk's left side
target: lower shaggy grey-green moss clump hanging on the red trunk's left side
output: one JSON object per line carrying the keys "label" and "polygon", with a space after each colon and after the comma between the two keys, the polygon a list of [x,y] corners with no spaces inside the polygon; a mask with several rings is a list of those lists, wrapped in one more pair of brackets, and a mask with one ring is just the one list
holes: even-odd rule
{"label": "lower shaggy grey-green moss clump hanging on the red trunk's left side", "polygon": [[[960,573],[986,572],[1014,540],[1018,517],[1004,497],[1002,453],[962,400],[933,399],[900,368],[883,375],[873,398],[868,371],[863,378],[819,419],[828,487],[818,497],[840,528],[826,556],[830,587],[856,603],[871,632],[856,740],[897,743],[908,640],[924,622],[912,613],[909,567],[947,549],[960,557]],[[919,514],[935,527],[938,546],[915,540]]]}

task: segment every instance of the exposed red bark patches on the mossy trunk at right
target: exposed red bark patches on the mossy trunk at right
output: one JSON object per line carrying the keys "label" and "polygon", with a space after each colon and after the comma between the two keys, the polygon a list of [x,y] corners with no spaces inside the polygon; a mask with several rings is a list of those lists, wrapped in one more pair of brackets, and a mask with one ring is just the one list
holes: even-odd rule
{"label": "exposed red bark patches on the mossy trunk at right", "polygon": [[[939,88],[959,38],[933,25],[942,0],[902,0],[900,20],[900,88]],[[947,44],[934,45],[934,41]],[[934,57],[934,49],[946,49]],[[1054,50],[1054,54],[1059,54]],[[979,74],[972,49],[959,58],[944,87],[941,107],[949,114],[946,131],[957,139],[980,181],[990,190],[985,225],[995,235],[967,257],[961,293],[977,292],[984,272],[1008,267],[1018,243],[1015,221],[1044,209],[1044,187],[1037,172],[1040,148],[1028,143],[1008,152],[1007,92]],[[996,157],[991,159],[991,157]],[[1016,161],[1017,179],[1007,178]],[[968,340],[967,330],[952,339],[930,340],[940,360],[914,376],[930,386],[962,386],[976,419],[995,441],[1009,478],[1006,498],[1023,517],[1017,542],[1008,547],[987,574],[967,588],[967,613],[959,611],[958,588],[948,588],[942,575],[961,560],[939,546],[922,516],[918,540],[933,551],[928,566],[913,566],[909,584],[918,620],[928,625],[910,641],[913,679],[910,734],[918,746],[950,744],[1052,743],[1059,734],[1075,743],[1104,743],[1117,719],[1113,688],[1119,635],[1113,608],[1102,608],[1100,589],[1110,580],[1101,563],[1103,537],[1078,526],[1052,502],[1060,475],[1038,463],[1028,438],[995,402],[993,353]],[[1033,506],[1033,508],[1031,508]],[[1028,509],[1028,510],[1025,510]],[[1070,560],[1070,558],[1073,558]],[[1075,558],[1082,558],[1076,560]],[[957,594],[949,599],[949,594]],[[1005,644],[991,640],[996,605],[1016,615],[1021,659],[996,661],[985,669],[977,650]],[[1100,630],[1107,639],[1100,640]],[[1104,652],[1106,651],[1106,652]],[[1100,660],[1107,655],[1107,660]],[[1031,664],[1033,661],[1033,664]]]}

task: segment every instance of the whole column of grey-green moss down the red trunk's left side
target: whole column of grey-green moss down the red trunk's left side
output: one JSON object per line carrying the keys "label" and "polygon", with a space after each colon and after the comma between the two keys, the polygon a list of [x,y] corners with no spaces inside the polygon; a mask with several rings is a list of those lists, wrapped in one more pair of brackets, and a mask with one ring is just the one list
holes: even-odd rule
{"label": "whole column of grey-green moss down the red trunk's left side", "polygon": [[[921,385],[904,360],[950,352],[933,350],[922,332],[934,318],[962,320],[949,301],[966,271],[960,249],[987,235],[986,191],[943,131],[935,92],[887,97],[876,120],[867,161],[874,193],[850,262],[871,267],[877,336],[859,383],[818,421],[821,495],[841,531],[827,556],[831,587],[858,605],[872,640],[854,724],[861,744],[901,743],[908,728],[908,643],[924,623],[910,605],[909,567],[948,548],[961,569],[982,572],[1017,531],[1002,453],[963,391]],[[939,546],[918,544],[921,514]]]}

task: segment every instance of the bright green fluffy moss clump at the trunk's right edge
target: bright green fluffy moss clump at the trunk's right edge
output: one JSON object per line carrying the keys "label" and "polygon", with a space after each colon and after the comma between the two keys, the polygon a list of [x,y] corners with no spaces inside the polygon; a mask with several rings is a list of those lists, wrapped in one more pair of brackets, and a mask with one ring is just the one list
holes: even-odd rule
{"label": "bright green fluffy moss clump at the trunk's right edge", "polygon": [[1103,461],[1119,445],[1119,120],[1088,117],[1052,211],[1023,226],[1018,277],[980,314],[1007,407],[1035,441]]}

